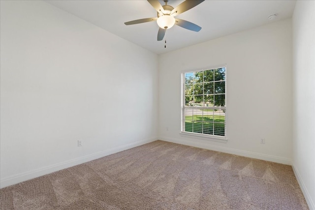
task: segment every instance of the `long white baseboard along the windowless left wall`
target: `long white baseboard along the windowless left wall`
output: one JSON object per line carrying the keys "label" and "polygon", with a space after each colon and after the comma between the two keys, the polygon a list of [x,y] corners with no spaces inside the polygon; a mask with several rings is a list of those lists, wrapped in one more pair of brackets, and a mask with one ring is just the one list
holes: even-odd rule
{"label": "long white baseboard along the windowless left wall", "polygon": [[145,139],[142,141],[138,141],[138,142],[134,142],[131,144],[127,144],[127,145],[123,145],[117,148],[112,148],[109,150],[104,150],[104,151],[100,151],[100,152],[95,152],[93,154],[89,154],[83,157],[78,157],[75,159],[71,159],[71,160],[67,160],[64,161],[62,163],[57,163],[57,164],[53,164],[47,167],[43,167],[37,170],[33,170],[33,171],[29,171],[29,172],[25,172],[25,173],[21,173],[21,174],[17,174],[17,175],[13,175],[10,177],[6,177],[0,180],[0,188],[6,187],[6,186],[10,186],[12,184],[16,184],[22,181],[26,181],[26,180],[31,180],[33,178],[36,177],[40,177],[46,174],[50,174],[65,168],[69,168],[78,164],[82,164],[91,160],[95,160],[97,158],[100,157],[104,157],[113,153],[117,153],[123,150],[128,150],[140,145],[144,145],[153,141],[158,140],[158,137],[152,137],[150,139]]}

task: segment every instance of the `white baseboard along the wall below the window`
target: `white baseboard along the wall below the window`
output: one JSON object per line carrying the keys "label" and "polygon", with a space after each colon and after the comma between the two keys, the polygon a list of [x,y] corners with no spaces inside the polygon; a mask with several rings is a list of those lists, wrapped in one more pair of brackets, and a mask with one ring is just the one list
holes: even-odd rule
{"label": "white baseboard along the wall below the window", "polygon": [[205,143],[200,143],[200,142],[191,142],[191,141],[168,138],[168,137],[160,137],[159,139],[162,141],[173,142],[177,144],[188,145],[188,146],[207,149],[207,150],[215,150],[215,151],[225,152],[229,154],[236,154],[236,155],[256,158],[260,160],[282,163],[285,165],[292,165],[291,159],[274,156],[274,155],[261,154],[261,153],[245,151],[245,150],[237,150],[237,149],[232,149],[232,148],[225,148],[225,147],[220,147],[220,146],[215,146],[215,145],[210,145],[210,144],[205,144]]}

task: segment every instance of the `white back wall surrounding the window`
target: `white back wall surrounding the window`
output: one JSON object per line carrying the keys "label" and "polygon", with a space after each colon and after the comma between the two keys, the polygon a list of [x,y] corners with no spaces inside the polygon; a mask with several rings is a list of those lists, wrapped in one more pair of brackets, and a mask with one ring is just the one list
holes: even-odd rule
{"label": "white back wall surrounding the window", "polygon": [[[159,56],[160,139],[291,164],[291,34],[288,19]],[[181,72],[224,63],[227,143],[180,135]]]}

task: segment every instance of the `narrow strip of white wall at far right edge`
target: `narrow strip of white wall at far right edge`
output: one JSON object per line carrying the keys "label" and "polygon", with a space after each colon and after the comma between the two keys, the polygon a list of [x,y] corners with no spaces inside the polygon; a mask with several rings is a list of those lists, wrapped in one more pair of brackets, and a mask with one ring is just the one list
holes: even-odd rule
{"label": "narrow strip of white wall at far right edge", "polygon": [[315,1],[297,1],[292,23],[293,169],[315,210]]}

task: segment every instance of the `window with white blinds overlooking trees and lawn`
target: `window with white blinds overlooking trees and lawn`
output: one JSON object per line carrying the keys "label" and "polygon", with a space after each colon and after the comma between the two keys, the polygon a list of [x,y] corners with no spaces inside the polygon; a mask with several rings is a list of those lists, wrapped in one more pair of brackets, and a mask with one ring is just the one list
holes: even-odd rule
{"label": "window with white blinds overlooking trees and lawn", "polygon": [[182,133],[226,139],[225,71],[182,74]]}

